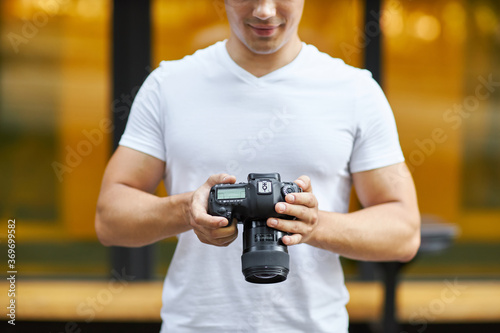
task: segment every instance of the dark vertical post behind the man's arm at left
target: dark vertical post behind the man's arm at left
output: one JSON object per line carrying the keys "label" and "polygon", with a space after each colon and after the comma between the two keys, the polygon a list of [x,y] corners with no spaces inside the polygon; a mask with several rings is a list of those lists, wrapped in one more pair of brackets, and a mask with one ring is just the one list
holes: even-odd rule
{"label": "dark vertical post behind the man's arm at left", "polygon": [[[125,130],[132,100],[151,68],[150,12],[149,0],[113,1],[113,150]],[[154,274],[153,250],[153,245],[112,247],[112,268],[131,280],[150,280]]]}

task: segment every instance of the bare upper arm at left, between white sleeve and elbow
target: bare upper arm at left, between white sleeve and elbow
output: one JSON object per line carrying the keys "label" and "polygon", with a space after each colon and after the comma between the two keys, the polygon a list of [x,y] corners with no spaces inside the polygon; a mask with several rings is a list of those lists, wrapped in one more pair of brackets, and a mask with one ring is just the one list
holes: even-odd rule
{"label": "bare upper arm at left, between white sleeve and elbow", "polygon": [[140,151],[118,146],[103,177],[103,188],[113,184],[127,185],[152,193],[163,178],[165,162]]}

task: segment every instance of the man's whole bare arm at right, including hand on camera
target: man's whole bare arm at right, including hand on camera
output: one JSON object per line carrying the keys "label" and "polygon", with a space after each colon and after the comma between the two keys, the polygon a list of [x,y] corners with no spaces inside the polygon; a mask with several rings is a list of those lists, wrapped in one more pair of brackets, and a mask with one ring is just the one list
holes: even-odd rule
{"label": "man's whole bare arm at right, including hand on camera", "polygon": [[286,245],[308,243],[356,260],[411,260],[420,245],[420,213],[406,165],[356,173],[353,181],[363,209],[318,211],[310,180],[301,177],[296,182],[304,192],[288,195],[287,203],[276,208],[297,221],[274,224],[271,219],[268,224],[293,234],[283,238]]}

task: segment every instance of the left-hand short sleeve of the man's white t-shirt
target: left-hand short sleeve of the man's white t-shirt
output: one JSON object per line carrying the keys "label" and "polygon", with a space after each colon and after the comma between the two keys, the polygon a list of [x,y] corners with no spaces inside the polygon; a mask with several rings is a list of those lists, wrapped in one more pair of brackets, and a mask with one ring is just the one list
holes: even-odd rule
{"label": "left-hand short sleeve of the man's white t-shirt", "polygon": [[161,67],[139,89],[119,144],[166,160],[161,118]]}

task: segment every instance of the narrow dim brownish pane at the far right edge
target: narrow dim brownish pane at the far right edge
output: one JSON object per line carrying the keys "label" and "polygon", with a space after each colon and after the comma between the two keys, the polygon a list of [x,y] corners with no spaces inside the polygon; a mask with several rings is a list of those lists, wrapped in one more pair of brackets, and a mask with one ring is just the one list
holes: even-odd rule
{"label": "narrow dim brownish pane at the far right edge", "polygon": [[500,3],[468,1],[463,204],[500,210]]}

